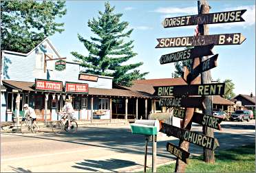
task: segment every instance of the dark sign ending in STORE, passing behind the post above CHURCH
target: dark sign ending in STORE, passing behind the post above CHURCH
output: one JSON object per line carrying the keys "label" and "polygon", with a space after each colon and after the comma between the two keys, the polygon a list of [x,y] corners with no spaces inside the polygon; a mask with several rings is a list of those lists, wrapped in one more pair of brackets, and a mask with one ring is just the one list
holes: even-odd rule
{"label": "dark sign ending in STORE, passing behind the post above CHURCH", "polygon": [[[173,108],[173,116],[179,117],[181,119],[184,119],[185,117],[185,109],[182,108]],[[211,116],[211,115],[205,115],[202,113],[193,113],[192,122],[195,122],[197,124],[201,124],[202,126],[207,126],[210,128],[215,128],[217,130],[222,130],[220,126],[220,122],[222,122],[222,118]]]}

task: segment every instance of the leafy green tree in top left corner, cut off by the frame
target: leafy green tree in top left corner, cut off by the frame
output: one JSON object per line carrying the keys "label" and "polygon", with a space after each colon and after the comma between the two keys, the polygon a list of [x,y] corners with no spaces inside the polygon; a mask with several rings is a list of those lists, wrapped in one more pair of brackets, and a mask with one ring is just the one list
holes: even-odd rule
{"label": "leafy green tree in top left corner, cut off by the frame", "polygon": [[27,53],[45,36],[63,32],[56,17],[66,14],[65,1],[1,1],[1,50]]}

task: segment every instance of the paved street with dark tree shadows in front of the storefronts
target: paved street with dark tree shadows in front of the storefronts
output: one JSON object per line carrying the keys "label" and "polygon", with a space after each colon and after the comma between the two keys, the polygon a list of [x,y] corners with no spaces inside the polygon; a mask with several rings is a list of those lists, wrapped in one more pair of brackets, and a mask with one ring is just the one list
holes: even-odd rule
{"label": "paved street with dark tree shadows in front of the storefronts", "polygon": [[[221,149],[255,143],[255,121],[221,125],[222,131],[215,130]],[[193,130],[201,129],[193,124]],[[157,164],[173,161],[166,143],[178,144],[178,139],[162,134],[158,139]],[[133,172],[143,168],[144,147],[144,137],[132,135],[129,126],[85,127],[60,135],[1,132],[1,172]],[[192,154],[202,154],[199,146],[190,147]],[[151,143],[148,151],[151,167]]]}

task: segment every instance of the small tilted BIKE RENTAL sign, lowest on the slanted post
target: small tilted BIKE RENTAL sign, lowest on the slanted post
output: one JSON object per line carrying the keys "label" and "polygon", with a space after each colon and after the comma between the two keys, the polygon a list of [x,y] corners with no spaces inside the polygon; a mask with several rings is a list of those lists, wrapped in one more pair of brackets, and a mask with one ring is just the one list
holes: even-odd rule
{"label": "small tilted BIKE RENTAL sign, lowest on the slanted post", "polygon": [[175,155],[175,157],[178,157],[180,160],[184,161],[184,163],[188,163],[188,158],[190,154],[189,152],[169,142],[167,142],[167,151],[171,152],[171,154]]}

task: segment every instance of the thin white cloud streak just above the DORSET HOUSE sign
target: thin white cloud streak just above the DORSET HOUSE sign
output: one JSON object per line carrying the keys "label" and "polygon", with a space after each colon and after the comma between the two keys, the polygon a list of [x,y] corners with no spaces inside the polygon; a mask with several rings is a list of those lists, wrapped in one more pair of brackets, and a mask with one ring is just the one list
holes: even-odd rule
{"label": "thin white cloud streak just above the DORSET HOUSE sign", "polygon": [[173,14],[173,13],[185,13],[185,14],[198,14],[197,7],[187,7],[187,8],[174,8],[174,7],[167,7],[167,8],[158,8],[153,10],[153,12],[160,12],[163,14]]}

